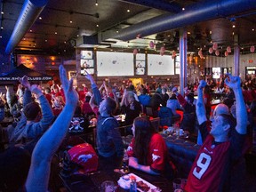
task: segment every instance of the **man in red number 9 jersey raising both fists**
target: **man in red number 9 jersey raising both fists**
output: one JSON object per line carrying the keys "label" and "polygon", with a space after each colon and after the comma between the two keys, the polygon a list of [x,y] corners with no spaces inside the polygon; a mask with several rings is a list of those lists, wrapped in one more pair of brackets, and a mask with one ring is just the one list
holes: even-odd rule
{"label": "man in red number 9 jersey raising both fists", "polygon": [[[200,132],[204,140],[199,149],[196,160],[188,175],[185,189],[194,191],[232,191],[230,189],[231,171],[234,164],[242,158],[244,146],[247,112],[244,104],[241,82],[238,76],[228,75],[225,84],[234,90],[236,97],[236,129],[231,131],[230,116],[216,115],[212,119],[212,130],[207,131],[206,113],[204,108],[203,89],[204,80],[198,87],[196,116],[200,124]],[[232,172],[235,174],[234,172]],[[241,180],[236,180],[236,184]]]}

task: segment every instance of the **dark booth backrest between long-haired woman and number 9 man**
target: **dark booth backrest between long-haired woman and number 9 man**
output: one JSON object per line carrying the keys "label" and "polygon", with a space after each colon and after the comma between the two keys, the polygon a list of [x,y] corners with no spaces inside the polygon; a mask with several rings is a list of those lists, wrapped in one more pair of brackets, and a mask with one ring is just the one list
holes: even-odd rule
{"label": "dark booth backrest between long-haired woman and number 9 man", "polygon": [[169,157],[177,168],[177,176],[187,179],[200,146],[196,145],[194,142],[179,139],[174,136],[167,137],[163,135],[163,137],[168,148]]}

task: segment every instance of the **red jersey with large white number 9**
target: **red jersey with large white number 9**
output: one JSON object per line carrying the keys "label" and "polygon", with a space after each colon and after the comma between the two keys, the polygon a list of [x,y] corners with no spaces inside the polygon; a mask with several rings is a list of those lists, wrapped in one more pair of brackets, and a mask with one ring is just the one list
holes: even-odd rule
{"label": "red jersey with large white number 9", "polygon": [[221,175],[228,158],[230,142],[212,144],[214,138],[208,135],[199,149],[196,160],[188,175],[185,187],[189,192],[218,191]]}

